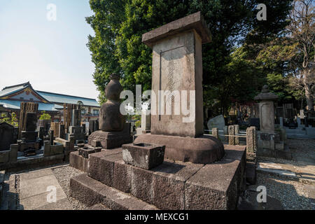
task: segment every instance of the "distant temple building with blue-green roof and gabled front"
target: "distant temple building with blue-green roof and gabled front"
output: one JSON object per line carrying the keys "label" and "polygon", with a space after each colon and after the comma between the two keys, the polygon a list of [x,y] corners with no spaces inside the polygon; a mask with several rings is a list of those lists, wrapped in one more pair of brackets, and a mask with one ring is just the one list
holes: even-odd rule
{"label": "distant temple building with blue-green roof and gabled front", "polygon": [[99,118],[100,106],[95,99],[34,90],[29,82],[4,87],[0,91],[1,111],[15,112],[19,116],[21,102],[38,103],[38,111],[49,113],[55,122],[62,120],[63,104],[81,104],[82,120]]}

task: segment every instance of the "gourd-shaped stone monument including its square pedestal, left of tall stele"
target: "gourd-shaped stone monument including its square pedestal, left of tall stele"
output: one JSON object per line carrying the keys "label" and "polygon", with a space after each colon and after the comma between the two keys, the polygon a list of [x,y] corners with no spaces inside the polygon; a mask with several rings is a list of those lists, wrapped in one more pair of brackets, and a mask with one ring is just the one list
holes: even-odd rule
{"label": "gourd-shaped stone monument including its square pedestal, left of tall stele", "polygon": [[111,81],[105,88],[107,102],[99,111],[99,131],[92,132],[88,139],[88,144],[93,147],[111,149],[132,142],[130,123],[126,123],[120,113],[120,92],[123,91],[120,76],[112,73],[110,78]]}

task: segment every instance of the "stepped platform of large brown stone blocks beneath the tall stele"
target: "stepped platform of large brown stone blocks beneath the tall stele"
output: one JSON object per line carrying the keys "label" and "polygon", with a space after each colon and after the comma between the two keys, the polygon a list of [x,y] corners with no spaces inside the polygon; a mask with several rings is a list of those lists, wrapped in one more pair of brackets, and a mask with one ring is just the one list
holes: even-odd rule
{"label": "stepped platform of large brown stone blocks beneath the tall stele", "polygon": [[213,164],[165,160],[151,170],[126,165],[121,152],[103,150],[83,158],[87,174],[71,179],[71,196],[110,209],[134,209],[130,204],[138,203],[136,209],[236,209],[245,187],[245,146],[225,146],[224,158]]}

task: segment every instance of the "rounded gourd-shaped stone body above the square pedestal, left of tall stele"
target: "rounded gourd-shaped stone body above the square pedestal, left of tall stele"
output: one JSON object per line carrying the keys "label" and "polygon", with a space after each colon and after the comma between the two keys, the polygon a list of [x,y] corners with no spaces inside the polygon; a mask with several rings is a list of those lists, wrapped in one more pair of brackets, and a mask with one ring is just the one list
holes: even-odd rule
{"label": "rounded gourd-shaped stone body above the square pedestal, left of tall stele", "polygon": [[125,118],[120,113],[120,92],[123,91],[123,87],[117,73],[112,73],[110,78],[111,81],[105,88],[107,102],[99,111],[99,129],[104,132],[121,132],[125,124]]}

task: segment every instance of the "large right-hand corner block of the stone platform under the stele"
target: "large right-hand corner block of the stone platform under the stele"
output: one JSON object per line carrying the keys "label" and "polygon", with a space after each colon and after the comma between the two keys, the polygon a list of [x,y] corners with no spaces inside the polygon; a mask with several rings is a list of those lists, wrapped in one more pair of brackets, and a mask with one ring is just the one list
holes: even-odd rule
{"label": "large right-hand corner block of the stone platform under the stele", "polygon": [[185,209],[236,209],[244,185],[245,147],[225,148],[223,160],[202,167],[186,181]]}

